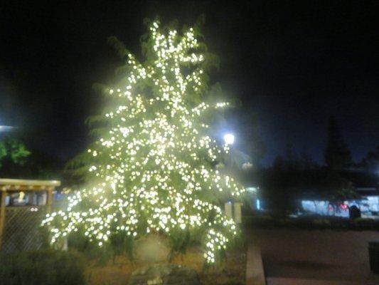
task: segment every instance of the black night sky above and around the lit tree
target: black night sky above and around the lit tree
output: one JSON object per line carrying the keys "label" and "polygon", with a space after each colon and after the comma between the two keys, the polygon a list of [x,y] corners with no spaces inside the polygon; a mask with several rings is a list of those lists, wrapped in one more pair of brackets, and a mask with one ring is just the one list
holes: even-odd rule
{"label": "black night sky above and around the lit tree", "polygon": [[[5,1],[4,1],[5,2]],[[277,4],[281,2],[282,4]],[[191,24],[205,14],[212,74],[242,107],[237,140],[258,118],[267,165],[292,143],[322,161],[335,115],[353,158],[379,144],[377,1],[9,1],[0,5],[0,122],[33,130],[44,150],[70,157],[99,113],[92,83],[109,83],[117,36],[139,52],[143,19]]]}

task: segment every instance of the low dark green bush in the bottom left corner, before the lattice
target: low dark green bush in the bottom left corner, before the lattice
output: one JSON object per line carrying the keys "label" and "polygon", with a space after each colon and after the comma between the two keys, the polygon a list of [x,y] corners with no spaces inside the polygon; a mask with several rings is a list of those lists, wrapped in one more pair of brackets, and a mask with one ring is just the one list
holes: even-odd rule
{"label": "low dark green bush in the bottom left corner, before the lattice", "polygon": [[84,264],[73,252],[43,250],[3,254],[0,285],[83,285]]}

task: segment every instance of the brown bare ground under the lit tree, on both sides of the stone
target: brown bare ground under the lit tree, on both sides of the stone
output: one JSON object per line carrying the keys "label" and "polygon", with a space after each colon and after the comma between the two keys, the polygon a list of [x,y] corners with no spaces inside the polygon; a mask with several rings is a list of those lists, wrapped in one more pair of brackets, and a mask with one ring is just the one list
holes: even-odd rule
{"label": "brown bare ground under the lit tree, on both sides of the stone", "polygon": [[[176,257],[174,264],[181,264],[198,271],[201,283],[204,285],[228,284],[240,285],[245,283],[245,252],[234,250],[228,253],[228,258],[222,266],[203,271],[202,253],[193,247],[183,257]],[[132,263],[125,257],[117,257],[114,262],[99,265],[91,261],[85,272],[87,285],[126,285],[132,271],[146,266],[144,263]]]}

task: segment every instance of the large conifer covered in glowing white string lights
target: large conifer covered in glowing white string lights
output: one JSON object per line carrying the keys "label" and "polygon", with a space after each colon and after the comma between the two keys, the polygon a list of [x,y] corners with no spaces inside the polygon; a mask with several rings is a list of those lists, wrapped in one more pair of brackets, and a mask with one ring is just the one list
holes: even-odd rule
{"label": "large conifer covered in glowing white string lights", "polygon": [[180,35],[155,21],[142,41],[144,62],[125,50],[127,76],[108,89],[105,125],[88,150],[91,186],[43,221],[52,243],[79,232],[102,247],[155,232],[172,244],[198,240],[213,263],[235,237],[220,201],[244,190],[215,167],[229,148],[210,138],[208,122],[228,103],[205,103],[208,53],[198,35],[197,26]]}

